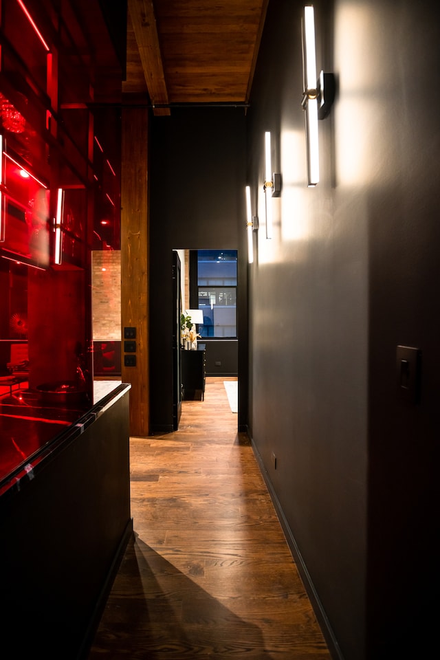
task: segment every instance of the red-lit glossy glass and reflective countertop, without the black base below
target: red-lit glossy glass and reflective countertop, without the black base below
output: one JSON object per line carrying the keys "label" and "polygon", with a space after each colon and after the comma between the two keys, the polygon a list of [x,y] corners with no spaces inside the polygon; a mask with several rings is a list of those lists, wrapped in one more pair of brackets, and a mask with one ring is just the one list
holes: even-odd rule
{"label": "red-lit glossy glass and reflective countertop, without the black base below", "polygon": [[[85,63],[95,47],[87,55],[84,43],[78,69],[65,27],[71,3],[55,12],[49,3],[41,17],[25,4],[2,3],[0,15],[3,483],[89,409],[91,252],[120,249],[120,109],[89,105],[96,76]],[[74,32],[83,43],[79,23]],[[102,374],[117,375],[120,341],[113,349],[111,331],[100,339]]]}

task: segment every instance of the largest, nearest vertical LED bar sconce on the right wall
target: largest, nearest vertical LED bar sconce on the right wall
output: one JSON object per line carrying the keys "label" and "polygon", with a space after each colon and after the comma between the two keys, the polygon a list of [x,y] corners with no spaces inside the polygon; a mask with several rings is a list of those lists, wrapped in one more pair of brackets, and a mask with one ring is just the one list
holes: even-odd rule
{"label": "largest, nearest vertical LED bar sconce on the right wall", "polygon": [[329,114],[335,98],[335,76],[320,72],[316,78],[315,14],[305,5],[303,17],[303,99],[307,140],[307,186],[319,182],[318,120]]}

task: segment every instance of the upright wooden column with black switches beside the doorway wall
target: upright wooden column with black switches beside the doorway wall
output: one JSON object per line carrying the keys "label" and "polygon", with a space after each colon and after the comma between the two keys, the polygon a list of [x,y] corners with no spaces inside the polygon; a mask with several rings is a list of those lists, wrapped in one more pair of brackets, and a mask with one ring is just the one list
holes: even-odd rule
{"label": "upright wooden column with black switches beside the doorway wall", "polygon": [[[121,353],[122,382],[131,383],[130,435],[149,434],[148,366],[148,110],[122,110]],[[135,329],[135,353],[124,329]],[[126,366],[127,356],[135,366]]]}

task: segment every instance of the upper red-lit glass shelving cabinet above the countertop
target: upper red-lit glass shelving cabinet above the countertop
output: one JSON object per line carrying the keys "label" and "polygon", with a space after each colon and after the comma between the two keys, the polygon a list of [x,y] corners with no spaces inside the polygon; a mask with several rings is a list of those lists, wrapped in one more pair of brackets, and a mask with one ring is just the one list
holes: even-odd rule
{"label": "upper red-lit glass shelving cabinet above the countertop", "polygon": [[122,64],[101,5],[0,3],[0,377],[25,342],[32,391],[85,399],[91,254],[120,249]]}

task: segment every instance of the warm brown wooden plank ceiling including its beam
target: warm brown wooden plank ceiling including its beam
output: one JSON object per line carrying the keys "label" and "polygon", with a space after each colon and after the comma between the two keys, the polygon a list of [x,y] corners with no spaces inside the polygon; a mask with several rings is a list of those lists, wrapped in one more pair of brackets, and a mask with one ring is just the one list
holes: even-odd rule
{"label": "warm brown wooden plank ceiling including its beam", "polygon": [[124,102],[247,104],[269,0],[128,0]]}

